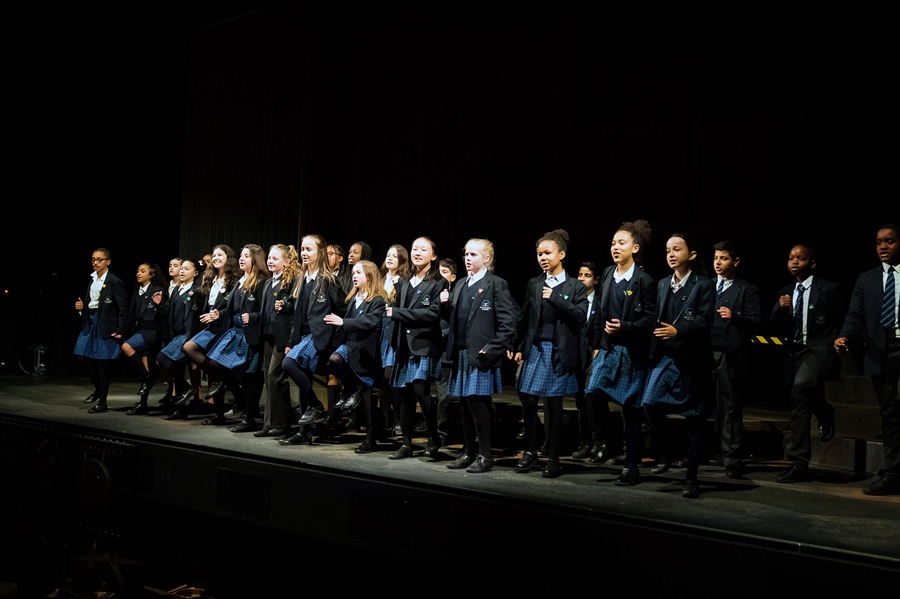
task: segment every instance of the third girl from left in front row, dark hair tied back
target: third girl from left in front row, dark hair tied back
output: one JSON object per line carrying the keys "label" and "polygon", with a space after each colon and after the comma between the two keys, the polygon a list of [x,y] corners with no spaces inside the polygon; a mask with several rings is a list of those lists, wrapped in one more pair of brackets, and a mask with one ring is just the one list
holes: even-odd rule
{"label": "third girl from left in front row, dark hair tied back", "polygon": [[[163,346],[162,351],[156,356],[156,363],[161,371],[169,374],[175,389],[175,396],[186,394],[192,389],[194,397],[200,395],[200,370],[196,364],[190,364],[191,383],[184,378],[184,367],[188,363],[184,353],[184,344],[194,335],[200,332],[203,324],[200,315],[204,313],[206,296],[201,291],[201,279],[206,270],[206,263],[202,260],[185,258],[181,262],[178,278],[181,284],[172,292],[169,301],[163,305],[163,320],[167,323],[167,338],[169,341]],[[174,401],[172,402],[174,406]],[[163,404],[163,407],[170,407]],[[173,412],[174,413],[174,412]],[[172,414],[166,416],[167,420],[173,420]],[[183,410],[186,417],[187,412]]]}

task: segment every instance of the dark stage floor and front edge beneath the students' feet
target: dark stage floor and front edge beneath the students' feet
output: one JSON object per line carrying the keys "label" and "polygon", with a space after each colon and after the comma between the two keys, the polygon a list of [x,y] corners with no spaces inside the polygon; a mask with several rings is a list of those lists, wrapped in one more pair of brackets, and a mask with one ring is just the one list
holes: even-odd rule
{"label": "dark stage floor and front edge beneath the students' feet", "polygon": [[700,498],[685,499],[684,471],[653,475],[650,462],[635,487],[614,484],[612,462],[564,459],[557,479],[515,473],[513,395],[497,398],[495,469],[467,474],[445,467],[458,444],[393,461],[396,440],[355,454],[357,432],[282,446],[198,416],[128,416],[136,388],[115,381],[110,411],[88,414],[86,379],[0,379],[0,581],[105,575],[131,596],[196,584],[217,597],[900,588],[900,497],[864,495],[864,467],[816,465],[809,483],[776,483],[786,462],[772,439],[788,414],[771,406],[747,411],[746,477],[704,465]]}

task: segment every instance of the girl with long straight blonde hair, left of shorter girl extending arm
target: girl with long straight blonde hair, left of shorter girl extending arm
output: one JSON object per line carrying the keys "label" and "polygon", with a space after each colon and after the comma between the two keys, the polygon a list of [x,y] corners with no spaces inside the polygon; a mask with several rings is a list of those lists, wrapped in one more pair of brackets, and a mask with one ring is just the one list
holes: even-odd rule
{"label": "girl with long straight blonde hair, left of shorter girl extending arm", "polygon": [[[291,338],[283,362],[284,372],[300,389],[300,430],[287,439],[279,439],[282,445],[309,445],[312,443],[310,426],[322,421],[325,408],[312,389],[314,374],[325,374],[328,358],[343,341],[340,327],[325,322],[325,316],[343,312],[344,293],[334,273],[328,269],[327,247],[321,235],[306,235],[300,242],[302,262],[299,282],[294,287],[291,302],[285,302],[282,311],[293,316]],[[328,405],[333,410],[337,401],[337,380],[329,380],[326,386]],[[276,409],[287,410],[286,406]],[[287,426],[288,413],[272,418],[272,426]]]}

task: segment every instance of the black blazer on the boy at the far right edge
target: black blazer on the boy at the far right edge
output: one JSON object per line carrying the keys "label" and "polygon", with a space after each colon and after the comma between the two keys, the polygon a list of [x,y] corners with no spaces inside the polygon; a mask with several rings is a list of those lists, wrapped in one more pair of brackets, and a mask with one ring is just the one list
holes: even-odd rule
{"label": "black blazer on the boy at the far right edge", "polygon": [[[866,271],[856,279],[847,317],[838,337],[862,341],[866,348],[863,369],[878,375],[884,369],[888,332],[881,326],[881,301],[884,296],[884,267]],[[896,279],[897,274],[894,274]],[[815,280],[815,279],[814,279]]]}

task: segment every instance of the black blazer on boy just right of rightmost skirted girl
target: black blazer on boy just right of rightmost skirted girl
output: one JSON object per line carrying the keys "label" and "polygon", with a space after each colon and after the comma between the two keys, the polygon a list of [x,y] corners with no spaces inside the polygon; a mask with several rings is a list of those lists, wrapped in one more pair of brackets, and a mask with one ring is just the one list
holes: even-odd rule
{"label": "black blazer on boy just right of rightmost skirted girl", "polygon": [[[713,279],[714,282],[715,280]],[[719,315],[718,310],[722,306],[731,310],[729,322],[725,322]],[[724,351],[728,356],[730,376],[748,374],[747,353],[750,349],[750,338],[759,332],[761,326],[759,289],[756,285],[735,277],[722,296],[716,296],[710,333],[713,349]]]}

